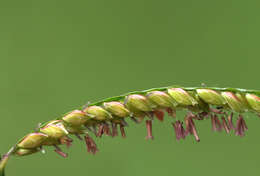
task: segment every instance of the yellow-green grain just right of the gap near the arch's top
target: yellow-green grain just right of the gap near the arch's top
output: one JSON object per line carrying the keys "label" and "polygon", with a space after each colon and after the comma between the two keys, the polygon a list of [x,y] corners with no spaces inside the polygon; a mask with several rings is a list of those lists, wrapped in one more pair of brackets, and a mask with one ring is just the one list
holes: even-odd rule
{"label": "yellow-green grain just right of the gap near the arch's top", "polygon": [[197,89],[196,90],[199,97],[204,100],[208,104],[212,105],[224,105],[225,100],[224,98],[216,91],[211,89]]}

